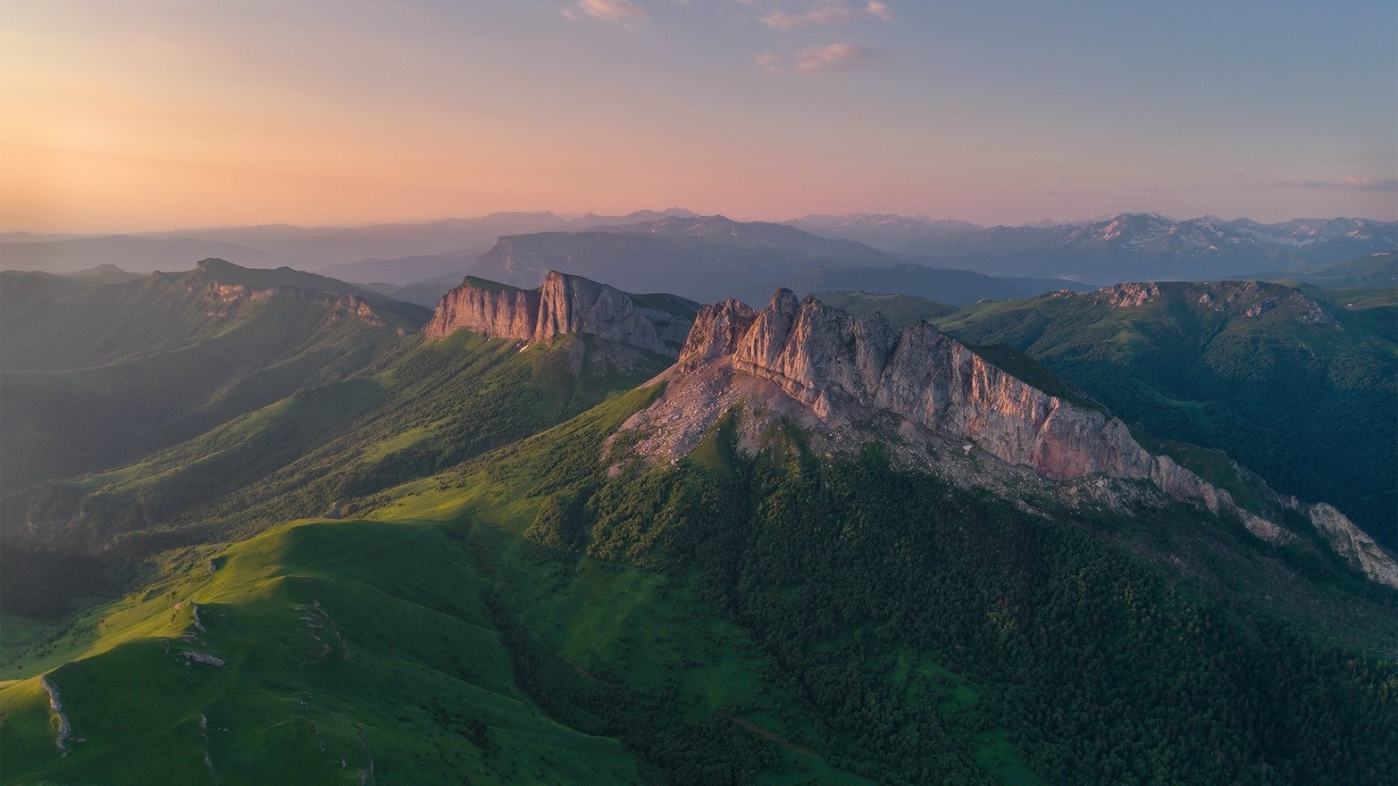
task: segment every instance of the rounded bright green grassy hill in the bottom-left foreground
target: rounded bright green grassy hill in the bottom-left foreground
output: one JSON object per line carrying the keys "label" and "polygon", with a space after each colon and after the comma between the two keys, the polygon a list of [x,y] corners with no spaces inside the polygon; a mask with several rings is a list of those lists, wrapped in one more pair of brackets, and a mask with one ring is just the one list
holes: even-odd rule
{"label": "rounded bright green grassy hill in the bottom-left foreground", "polygon": [[98,638],[49,673],[84,738],[69,757],[38,680],[0,688],[6,780],[635,782],[621,745],[549,720],[514,685],[467,538],[301,522],[222,550],[214,573],[211,554],[169,565],[94,614]]}

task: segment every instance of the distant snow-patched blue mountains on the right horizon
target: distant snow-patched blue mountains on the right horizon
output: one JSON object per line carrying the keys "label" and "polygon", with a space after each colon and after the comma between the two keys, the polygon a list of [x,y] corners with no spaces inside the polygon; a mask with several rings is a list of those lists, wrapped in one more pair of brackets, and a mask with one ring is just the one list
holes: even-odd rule
{"label": "distant snow-patched blue mountains on the right horizon", "polygon": [[[1001,276],[1057,276],[1100,284],[1253,277],[1398,248],[1398,222],[1359,218],[1257,224],[1121,214],[1057,227],[991,227],[935,234],[900,250]],[[945,263],[944,263],[945,264]]]}

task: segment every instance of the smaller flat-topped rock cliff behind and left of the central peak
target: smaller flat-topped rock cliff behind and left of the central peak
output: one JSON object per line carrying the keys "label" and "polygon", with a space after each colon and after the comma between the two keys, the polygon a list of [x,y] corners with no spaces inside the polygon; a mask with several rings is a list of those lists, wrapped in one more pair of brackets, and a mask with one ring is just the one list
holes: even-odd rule
{"label": "smaller flat-topped rock cliff behind and left of the central peak", "polygon": [[431,338],[470,330],[488,338],[547,343],[590,333],[677,357],[698,303],[674,295],[632,295],[580,276],[549,271],[538,290],[467,277],[442,295],[422,329]]}

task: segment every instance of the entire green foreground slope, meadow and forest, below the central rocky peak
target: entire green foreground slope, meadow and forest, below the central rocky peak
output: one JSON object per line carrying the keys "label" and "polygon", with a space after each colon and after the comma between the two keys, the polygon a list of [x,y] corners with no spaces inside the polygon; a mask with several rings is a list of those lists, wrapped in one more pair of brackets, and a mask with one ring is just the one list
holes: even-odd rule
{"label": "entire green foreground slope, meadow and forest, below the central rocky peak", "polygon": [[1197,509],[1030,513],[797,429],[740,453],[731,418],[677,464],[628,466],[607,438],[653,394],[361,519],[169,552],[126,599],[7,639],[7,780],[1398,772],[1398,600],[1338,562]]}

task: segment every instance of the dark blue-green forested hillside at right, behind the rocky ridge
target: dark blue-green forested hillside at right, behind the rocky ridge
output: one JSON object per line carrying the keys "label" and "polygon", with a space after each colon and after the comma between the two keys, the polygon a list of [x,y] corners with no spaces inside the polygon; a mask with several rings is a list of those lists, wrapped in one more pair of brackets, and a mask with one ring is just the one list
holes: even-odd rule
{"label": "dark blue-green forested hillside at right, behind the rocky ridge", "polygon": [[1123,284],[939,317],[1005,343],[1127,422],[1226,450],[1398,545],[1398,305],[1391,290]]}

